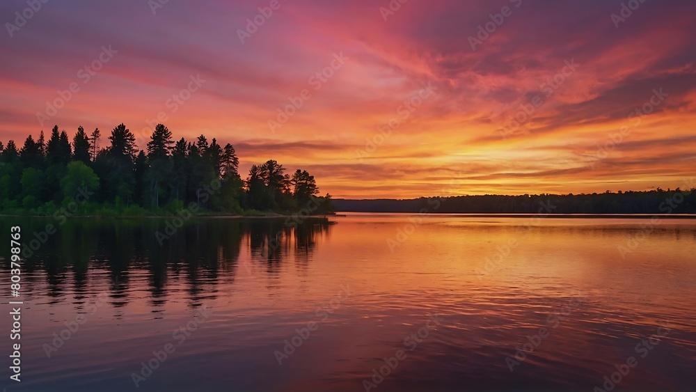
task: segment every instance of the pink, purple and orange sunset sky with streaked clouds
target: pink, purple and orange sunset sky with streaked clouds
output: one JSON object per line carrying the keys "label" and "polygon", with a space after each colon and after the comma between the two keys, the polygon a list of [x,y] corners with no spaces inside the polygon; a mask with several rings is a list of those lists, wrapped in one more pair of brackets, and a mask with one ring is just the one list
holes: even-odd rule
{"label": "pink, purple and orange sunset sky with streaked clouds", "polygon": [[[395,0],[389,12],[387,0],[279,0],[257,16],[273,2],[48,1],[13,29],[27,3],[2,1],[0,140],[82,125],[103,146],[125,123],[142,147],[161,112],[175,139],[232,143],[244,178],[276,159],[339,198],[667,189],[694,176],[693,1],[624,1],[639,6],[622,17],[619,0]],[[289,97],[301,107],[271,130]],[[512,131],[515,117],[526,120]]]}

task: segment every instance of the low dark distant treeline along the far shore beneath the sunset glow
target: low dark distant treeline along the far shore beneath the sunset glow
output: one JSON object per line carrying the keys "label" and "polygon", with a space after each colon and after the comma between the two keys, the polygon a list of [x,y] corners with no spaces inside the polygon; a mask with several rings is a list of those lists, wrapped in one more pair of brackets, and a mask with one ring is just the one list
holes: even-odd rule
{"label": "low dark distant treeline along the far shore beneath the sunset glow", "polygon": [[603,194],[454,196],[409,200],[336,199],[337,211],[459,214],[696,214],[696,189]]}

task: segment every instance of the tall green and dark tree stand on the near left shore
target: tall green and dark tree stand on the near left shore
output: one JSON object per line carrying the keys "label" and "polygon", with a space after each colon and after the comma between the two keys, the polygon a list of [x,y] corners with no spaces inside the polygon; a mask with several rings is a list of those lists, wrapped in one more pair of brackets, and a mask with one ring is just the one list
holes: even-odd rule
{"label": "tall green and dark tree stand on the near left shore", "polygon": [[270,159],[242,179],[235,148],[204,135],[174,141],[159,124],[146,150],[138,151],[134,134],[120,124],[104,148],[101,142],[98,128],[88,135],[79,127],[71,142],[57,125],[48,141],[41,131],[21,148],[0,142],[0,211],[54,214],[70,206],[77,207],[74,214],[173,214],[196,203],[226,214],[333,212],[331,196],[316,196],[319,188],[307,171],[290,175]]}

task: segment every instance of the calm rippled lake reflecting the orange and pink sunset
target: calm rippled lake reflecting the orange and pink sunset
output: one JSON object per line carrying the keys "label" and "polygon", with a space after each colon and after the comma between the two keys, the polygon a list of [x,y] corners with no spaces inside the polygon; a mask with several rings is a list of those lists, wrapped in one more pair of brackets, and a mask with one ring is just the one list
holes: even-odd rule
{"label": "calm rippled lake reflecting the orange and pink sunset", "polygon": [[6,391],[694,390],[696,219],[180,224],[3,217]]}

